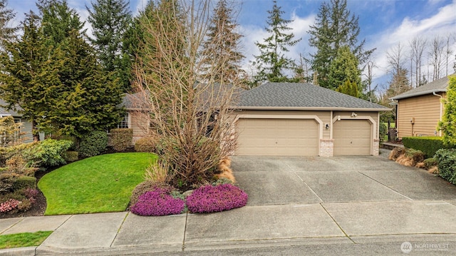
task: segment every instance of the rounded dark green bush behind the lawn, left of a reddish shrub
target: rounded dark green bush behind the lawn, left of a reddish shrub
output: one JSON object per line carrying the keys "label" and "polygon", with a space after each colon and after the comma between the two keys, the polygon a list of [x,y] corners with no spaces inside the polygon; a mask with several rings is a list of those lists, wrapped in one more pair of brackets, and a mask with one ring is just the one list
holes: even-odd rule
{"label": "rounded dark green bush behind the lawn, left of a reddish shrub", "polygon": [[107,145],[108,133],[102,130],[94,130],[81,138],[78,152],[81,156],[89,158],[90,156],[100,155]]}

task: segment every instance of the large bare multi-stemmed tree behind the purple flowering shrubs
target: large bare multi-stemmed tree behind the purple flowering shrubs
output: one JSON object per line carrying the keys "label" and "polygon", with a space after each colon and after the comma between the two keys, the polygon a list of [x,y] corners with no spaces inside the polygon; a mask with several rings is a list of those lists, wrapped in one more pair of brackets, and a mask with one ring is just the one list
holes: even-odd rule
{"label": "large bare multi-stemmed tree behind the purple flowering shrubs", "polygon": [[[171,4],[162,6],[154,21],[141,24],[150,47],[140,60],[145,65],[138,65],[135,86],[160,137],[157,153],[169,167],[167,180],[185,189],[210,181],[219,160],[234,149],[230,106],[240,81],[227,86],[217,73],[204,72],[198,53],[210,25],[211,1],[162,1]],[[217,61],[223,68],[229,56]]]}

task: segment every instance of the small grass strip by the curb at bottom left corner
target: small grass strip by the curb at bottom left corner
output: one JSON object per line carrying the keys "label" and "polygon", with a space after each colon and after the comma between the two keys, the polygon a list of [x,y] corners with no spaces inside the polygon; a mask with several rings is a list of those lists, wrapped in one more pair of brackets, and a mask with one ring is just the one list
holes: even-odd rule
{"label": "small grass strip by the curb at bottom left corner", "polygon": [[38,231],[34,233],[19,233],[13,235],[0,235],[0,249],[28,247],[41,245],[52,231]]}

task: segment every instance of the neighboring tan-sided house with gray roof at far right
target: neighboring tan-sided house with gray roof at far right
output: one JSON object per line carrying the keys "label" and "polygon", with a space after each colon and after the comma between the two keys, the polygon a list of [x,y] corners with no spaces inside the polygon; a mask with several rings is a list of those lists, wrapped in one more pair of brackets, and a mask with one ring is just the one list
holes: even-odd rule
{"label": "neighboring tan-sided house with gray roof at far right", "polygon": [[441,136],[437,124],[442,118],[448,77],[426,83],[391,98],[397,102],[398,138],[408,136]]}

